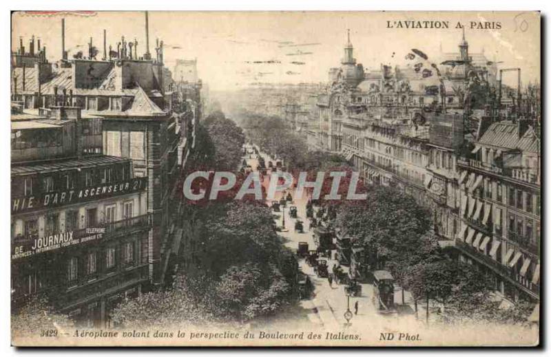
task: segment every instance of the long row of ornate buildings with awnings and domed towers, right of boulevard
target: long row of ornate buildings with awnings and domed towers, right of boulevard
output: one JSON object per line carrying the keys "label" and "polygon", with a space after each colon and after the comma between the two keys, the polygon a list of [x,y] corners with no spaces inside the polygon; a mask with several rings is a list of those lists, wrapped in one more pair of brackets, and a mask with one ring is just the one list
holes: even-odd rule
{"label": "long row of ornate buildings with awnings and domed towers, right of boulevard", "polygon": [[349,37],[318,96],[310,147],[429,208],[441,246],[499,296],[539,301],[539,94],[498,96],[495,61],[470,54],[464,34],[459,52],[441,57],[364,70]]}

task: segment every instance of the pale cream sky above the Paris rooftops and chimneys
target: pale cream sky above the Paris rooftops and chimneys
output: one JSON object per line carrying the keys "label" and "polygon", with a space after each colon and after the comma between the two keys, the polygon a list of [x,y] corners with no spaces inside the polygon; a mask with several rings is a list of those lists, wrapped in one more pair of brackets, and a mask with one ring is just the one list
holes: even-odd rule
{"label": "pale cream sky above the Paris rooftops and chimneys", "polygon": [[[107,47],[116,49],[125,36],[138,41],[138,55],[145,52],[144,12],[14,12],[12,50],[20,36],[28,48],[34,34],[47,47],[48,59],[59,60],[62,17],[70,58],[79,50],[87,53],[90,37],[103,54],[104,29]],[[449,28],[404,28],[408,21],[447,22]],[[253,82],[319,83],[328,80],[329,68],[340,66],[347,29],[357,63],[369,70],[381,63],[406,67],[410,62],[404,56],[413,48],[435,61],[441,51],[457,52],[463,31],[458,22],[466,27],[471,53],[501,61],[499,68],[521,67],[523,84],[540,82],[539,14],[534,12],[149,12],[149,52],[154,55],[158,38],[165,43],[169,69],[178,58],[197,58],[199,77],[216,91]],[[479,22],[491,25],[479,29]],[[510,73],[503,82],[514,84],[513,77]]]}

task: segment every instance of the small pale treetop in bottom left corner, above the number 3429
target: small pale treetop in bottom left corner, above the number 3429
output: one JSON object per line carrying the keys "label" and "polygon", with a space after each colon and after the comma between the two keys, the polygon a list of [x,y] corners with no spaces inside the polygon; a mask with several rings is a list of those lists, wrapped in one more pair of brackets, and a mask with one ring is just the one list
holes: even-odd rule
{"label": "small pale treetop in bottom left corner, above the number 3429", "polygon": [[67,331],[74,325],[65,314],[59,314],[44,296],[36,296],[12,315],[12,336],[38,336],[47,329]]}

